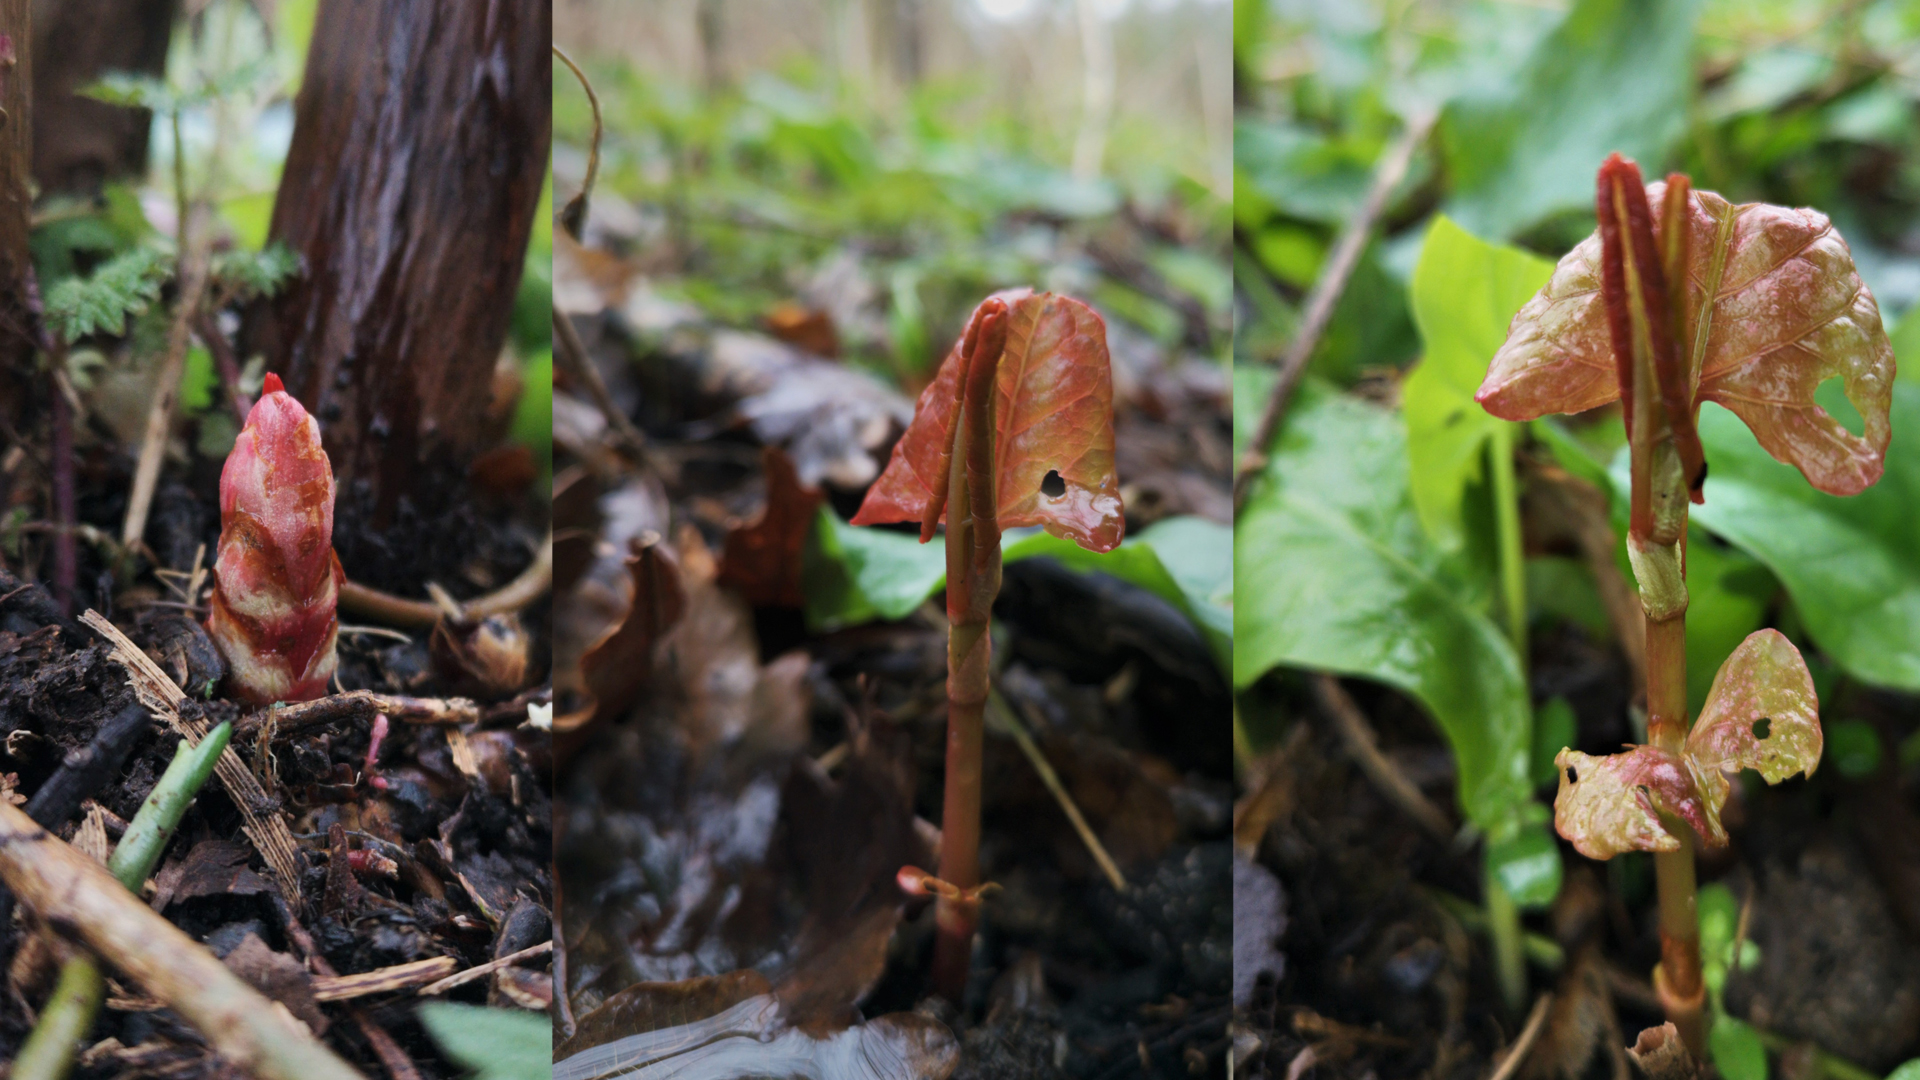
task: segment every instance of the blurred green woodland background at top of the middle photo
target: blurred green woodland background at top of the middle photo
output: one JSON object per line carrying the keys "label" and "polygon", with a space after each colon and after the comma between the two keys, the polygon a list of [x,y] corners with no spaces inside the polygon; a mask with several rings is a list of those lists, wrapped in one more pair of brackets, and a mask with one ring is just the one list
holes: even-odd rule
{"label": "blurred green woodland background at top of the middle photo", "polygon": [[[588,246],[720,323],[824,311],[908,392],[1012,284],[1225,359],[1229,25],[1221,0],[561,0],[607,125]],[[572,190],[564,73],[553,115]]]}

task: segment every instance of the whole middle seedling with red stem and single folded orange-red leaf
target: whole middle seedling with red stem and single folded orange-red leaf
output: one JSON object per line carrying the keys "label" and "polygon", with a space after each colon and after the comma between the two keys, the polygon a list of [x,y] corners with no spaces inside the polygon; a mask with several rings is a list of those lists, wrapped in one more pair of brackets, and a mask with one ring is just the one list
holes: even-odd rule
{"label": "whole middle seedling with red stem and single folded orange-red leaf", "polygon": [[1000,530],[1039,525],[1106,553],[1127,525],[1114,477],[1106,323],[1092,307],[1010,290],[973,309],[852,525],[897,521],[918,521],[922,544],[947,523],[941,871],[933,878],[908,867],[900,880],[939,897],[933,988],[958,1003],[979,919],[981,723]]}

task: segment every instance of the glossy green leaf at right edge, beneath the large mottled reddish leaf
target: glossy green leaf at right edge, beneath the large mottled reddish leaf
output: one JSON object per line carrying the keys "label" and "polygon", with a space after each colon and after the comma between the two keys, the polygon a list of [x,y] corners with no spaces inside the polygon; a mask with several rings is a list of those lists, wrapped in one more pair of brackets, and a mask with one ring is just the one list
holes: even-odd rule
{"label": "glossy green leaf at right edge, beneath the large mottled reddish leaf", "polygon": [[[1837,386],[1824,390],[1828,402]],[[1920,388],[1893,384],[1891,423],[1916,438]],[[1872,488],[1836,498],[1774,461],[1718,407],[1701,409],[1711,473],[1693,519],[1766,563],[1793,596],[1807,632],[1855,678],[1920,690],[1920,454],[1887,455]]]}

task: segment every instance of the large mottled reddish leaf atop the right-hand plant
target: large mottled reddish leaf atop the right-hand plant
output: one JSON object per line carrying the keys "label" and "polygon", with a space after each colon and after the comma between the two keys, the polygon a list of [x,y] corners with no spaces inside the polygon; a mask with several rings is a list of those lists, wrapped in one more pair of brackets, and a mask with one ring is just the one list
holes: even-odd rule
{"label": "large mottled reddish leaf atop the right-hand plant", "polygon": [[[1647,184],[1663,202],[1667,184]],[[1655,233],[1665,221],[1655,223]],[[1822,492],[1859,494],[1885,461],[1893,346],[1847,242],[1814,209],[1688,200],[1688,306],[1693,407],[1718,402],[1761,446]],[[1620,396],[1601,296],[1599,233],[1555,267],[1513,317],[1476,400],[1509,421],[1578,413]],[[1711,296],[1709,296],[1711,294]],[[1697,365],[1695,365],[1697,361]],[[1839,379],[1864,417],[1853,434],[1812,400]]]}

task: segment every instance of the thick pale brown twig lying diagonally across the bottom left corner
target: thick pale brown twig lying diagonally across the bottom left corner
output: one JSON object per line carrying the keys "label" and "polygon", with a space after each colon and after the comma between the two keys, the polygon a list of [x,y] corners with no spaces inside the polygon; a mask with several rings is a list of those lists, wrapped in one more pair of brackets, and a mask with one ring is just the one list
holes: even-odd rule
{"label": "thick pale brown twig lying diagonally across the bottom left corner", "polygon": [[108,872],[0,799],[0,880],[194,1024],[221,1057],[267,1080],[359,1080],[273,1001]]}

